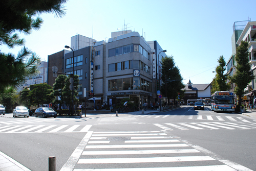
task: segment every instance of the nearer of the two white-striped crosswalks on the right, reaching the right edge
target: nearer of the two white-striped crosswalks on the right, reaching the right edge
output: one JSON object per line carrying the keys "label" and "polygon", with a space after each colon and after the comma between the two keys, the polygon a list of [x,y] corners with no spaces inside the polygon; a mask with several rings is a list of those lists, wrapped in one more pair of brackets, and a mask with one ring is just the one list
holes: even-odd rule
{"label": "nearer of the two white-striped crosswalks on the right, reaching the right edge", "polygon": [[218,123],[218,122],[202,122],[202,123],[164,123],[164,124],[153,124],[162,130],[172,131],[172,130],[249,130],[256,129],[256,123]]}

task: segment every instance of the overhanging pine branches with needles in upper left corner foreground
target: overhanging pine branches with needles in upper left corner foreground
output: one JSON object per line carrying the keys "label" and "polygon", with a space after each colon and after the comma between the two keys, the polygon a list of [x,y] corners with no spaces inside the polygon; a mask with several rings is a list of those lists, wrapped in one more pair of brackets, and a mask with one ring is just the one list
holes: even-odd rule
{"label": "overhanging pine branches with needles in upper left corner foreground", "polygon": [[[0,45],[8,47],[24,45],[17,32],[25,35],[32,30],[39,30],[42,13],[54,13],[56,16],[65,15],[62,4],[67,0],[2,0],[0,1]],[[28,60],[27,60],[28,59]],[[27,62],[25,62],[27,60]],[[36,74],[36,64],[39,57],[24,47],[17,56],[0,51],[0,93],[9,86],[17,87],[28,77]]]}

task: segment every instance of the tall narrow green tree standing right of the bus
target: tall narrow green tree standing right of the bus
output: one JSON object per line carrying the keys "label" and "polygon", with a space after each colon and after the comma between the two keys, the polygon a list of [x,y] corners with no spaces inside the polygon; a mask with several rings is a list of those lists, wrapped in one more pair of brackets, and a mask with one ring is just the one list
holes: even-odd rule
{"label": "tall narrow green tree standing right of the bus", "polygon": [[247,85],[254,79],[253,72],[251,71],[251,63],[248,60],[248,42],[241,41],[240,45],[237,47],[236,54],[236,73],[232,77],[228,77],[228,79],[236,85],[234,88],[234,93],[236,93],[239,97],[238,99],[238,110],[240,110],[241,106],[241,97],[244,93],[244,89]]}

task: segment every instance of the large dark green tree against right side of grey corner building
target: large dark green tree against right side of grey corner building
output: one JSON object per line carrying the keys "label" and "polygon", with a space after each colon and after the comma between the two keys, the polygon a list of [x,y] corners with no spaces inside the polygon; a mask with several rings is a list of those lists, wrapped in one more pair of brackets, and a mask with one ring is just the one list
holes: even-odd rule
{"label": "large dark green tree against right side of grey corner building", "polygon": [[174,57],[166,56],[162,58],[161,64],[163,81],[161,92],[163,93],[163,96],[167,95],[168,99],[176,100],[180,93],[181,99],[185,92],[185,90],[182,90],[185,88],[185,85],[182,83],[183,78],[180,74],[180,69],[175,66]]}

